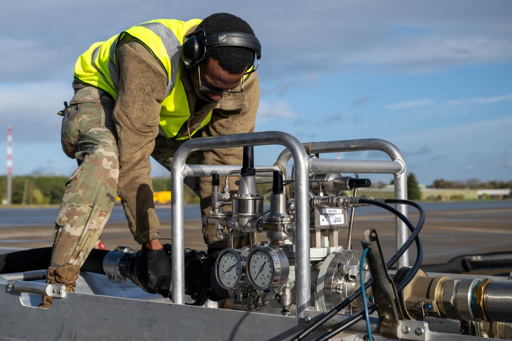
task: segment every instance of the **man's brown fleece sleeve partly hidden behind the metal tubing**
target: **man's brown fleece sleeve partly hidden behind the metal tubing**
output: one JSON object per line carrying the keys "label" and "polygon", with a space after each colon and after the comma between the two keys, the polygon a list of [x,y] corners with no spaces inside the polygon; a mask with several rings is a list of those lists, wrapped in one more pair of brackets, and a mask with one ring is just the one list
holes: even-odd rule
{"label": "man's brown fleece sleeve partly hidden behind the metal tubing", "polygon": [[[238,110],[214,110],[210,123],[201,129],[202,137],[212,137],[227,134],[238,134],[253,132],[256,124],[256,112],[260,104],[260,83],[257,73],[249,76],[244,84],[245,108]],[[203,153],[203,162],[206,165],[242,165],[243,147],[222,148],[206,150]],[[221,186],[224,184],[224,177],[221,179]],[[234,181],[236,176],[230,177],[229,188],[237,189]],[[199,180],[199,193],[202,215],[210,211],[211,179],[201,177]],[[231,191],[231,194],[234,192]],[[205,242],[217,240],[217,231],[214,226],[203,226]]]}

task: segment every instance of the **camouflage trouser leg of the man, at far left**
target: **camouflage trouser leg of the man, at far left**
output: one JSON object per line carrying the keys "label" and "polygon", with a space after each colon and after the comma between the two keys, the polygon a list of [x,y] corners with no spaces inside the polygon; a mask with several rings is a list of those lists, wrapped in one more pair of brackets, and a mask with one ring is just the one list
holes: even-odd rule
{"label": "camouflage trouser leg of the man, at far left", "polygon": [[117,196],[119,161],[112,110],[102,90],[75,90],[62,119],[62,149],[78,167],[55,221],[51,266],[81,266],[99,239]]}

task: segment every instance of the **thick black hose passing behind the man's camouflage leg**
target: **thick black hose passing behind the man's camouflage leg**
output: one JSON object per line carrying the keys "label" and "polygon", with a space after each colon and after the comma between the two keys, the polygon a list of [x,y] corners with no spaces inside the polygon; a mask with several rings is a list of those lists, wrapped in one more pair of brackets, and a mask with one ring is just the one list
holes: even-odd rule
{"label": "thick black hose passing behind the man's camouflage leg", "polygon": [[[80,271],[105,274],[105,271],[103,271],[103,258],[105,258],[108,252],[108,250],[93,249],[80,268]],[[48,269],[51,258],[51,247],[30,248],[3,254],[0,255],[0,274]]]}

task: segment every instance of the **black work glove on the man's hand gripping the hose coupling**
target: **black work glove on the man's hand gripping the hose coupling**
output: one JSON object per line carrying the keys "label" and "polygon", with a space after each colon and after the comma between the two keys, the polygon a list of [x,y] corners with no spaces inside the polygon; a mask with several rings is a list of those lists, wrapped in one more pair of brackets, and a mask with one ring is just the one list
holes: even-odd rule
{"label": "black work glove on the man's hand gripping the hose coupling", "polygon": [[142,247],[137,259],[137,278],[139,285],[149,293],[160,293],[169,297],[172,270],[170,261],[163,248],[152,250]]}

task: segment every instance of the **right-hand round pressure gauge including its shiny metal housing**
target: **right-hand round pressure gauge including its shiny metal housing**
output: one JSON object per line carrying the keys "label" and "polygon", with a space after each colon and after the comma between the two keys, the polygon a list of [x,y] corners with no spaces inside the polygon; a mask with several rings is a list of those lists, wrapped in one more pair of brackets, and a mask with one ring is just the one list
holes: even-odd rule
{"label": "right-hand round pressure gauge including its shiny metal housing", "polygon": [[285,253],[270,246],[252,249],[247,258],[247,276],[253,287],[279,287],[288,278],[290,266]]}

